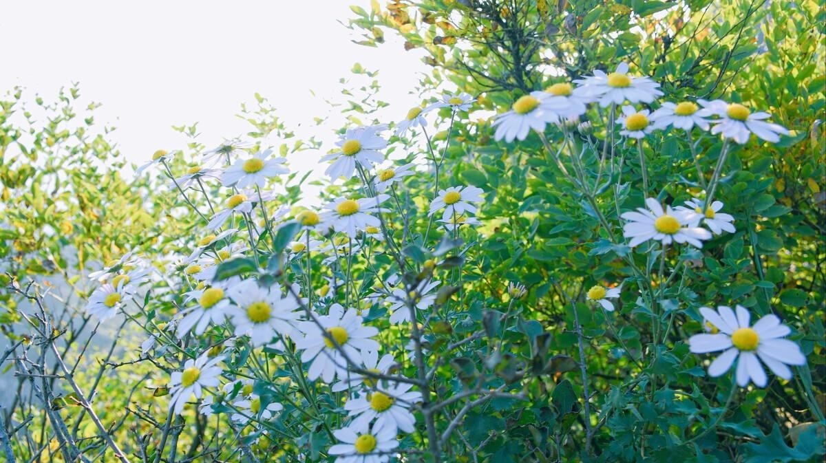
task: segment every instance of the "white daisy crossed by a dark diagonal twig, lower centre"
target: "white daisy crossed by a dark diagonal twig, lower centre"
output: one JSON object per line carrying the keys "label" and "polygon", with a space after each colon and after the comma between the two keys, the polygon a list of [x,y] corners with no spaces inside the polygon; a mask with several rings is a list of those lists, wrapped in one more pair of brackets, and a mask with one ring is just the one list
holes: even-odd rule
{"label": "white daisy crossed by a dark diagonal twig, lower centre", "polygon": [[[339,348],[346,353],[350,361],[361,363],[361,352],[377,351],[379,344],[371,339],[378,334],[378,329],[372,326],[363,326],[362,317],[356,309],[348,309],[339,304],[330,306],[330,314],[319,316],[319,328],[315,321],[304,321],[298,324],[298,329],[304,333],[303,338],[296,339],[296,347],[303,350],[301,361],[311,361],[307,377],[315,380],[319,376],[325,383],[347,377],[347,359],[339,352]],[[334,343],[327,335],[335,339]]]}

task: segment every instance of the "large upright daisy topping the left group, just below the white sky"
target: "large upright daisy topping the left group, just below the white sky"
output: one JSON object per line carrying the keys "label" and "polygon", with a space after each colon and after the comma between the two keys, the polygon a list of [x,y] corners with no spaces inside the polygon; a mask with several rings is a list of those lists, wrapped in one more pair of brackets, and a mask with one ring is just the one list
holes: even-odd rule
{"label": "large upright daisy topping the left group, just below the white sky", "polygon": [[325,174],[329,175],[333,181],[339,177],[349,179],[353,177],[356,163],[364,169],[371,169],[373,164],[382,163],[384,154],[379,153],[377,149],[386,148],[387,140],[382,139],[377,133],[385,128],[386,125],[373,125],[347,130],[335,143],[339,149],[320,159],[321,161],[333,161],[324,171]]}

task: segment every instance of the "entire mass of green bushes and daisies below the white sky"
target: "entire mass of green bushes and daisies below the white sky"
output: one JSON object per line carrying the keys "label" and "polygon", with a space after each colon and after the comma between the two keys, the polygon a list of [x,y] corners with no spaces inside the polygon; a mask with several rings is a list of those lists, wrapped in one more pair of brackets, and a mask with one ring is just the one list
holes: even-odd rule
{"label": "entire mass of green bushes and daisies below the white sky", "polygon": [[823,457],[822,6],[353,10],[434,69],[336,146],[257,96],[128,182],[77,89],[0,103],[0,458]]}

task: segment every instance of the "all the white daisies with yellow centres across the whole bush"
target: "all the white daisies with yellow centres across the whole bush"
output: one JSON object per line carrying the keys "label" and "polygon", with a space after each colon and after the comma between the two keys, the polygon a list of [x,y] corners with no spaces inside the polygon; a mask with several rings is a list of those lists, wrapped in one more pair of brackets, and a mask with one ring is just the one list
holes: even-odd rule
{"label": "all the white daisies with yellow centres across the whole bush", "polygon": [[[530,130],[544,132],[548,124],[576,124],[592,103],[611,106],[612,115],[613,108],[619,106],[619,117],[614,121],[619,125],[619,134],[638,140],[669,126],[686,131],[695,127],[710,130],[740,144],[748,141],[752,133],[768,141],[777,141],[779,134],[787,133],[781,126],[765,121],[766,113],[752,113],[736,103],[664,102],[654,111],[633,106],[651,104],[659,96],[662,92],[657,83],[629,75],[628,66],[621,64],[614,73],[596,71],[593,76],[573,83],[556,83],[544,92],[520,97],[511,111],[493,121],[495,138],[511,142],[525,139]],[[395,135],[401,137],[420,128],[426,136],[426,116],[431,111],[449,108],[451,115],[456,116],[459,111],[468,111],[472,102],[471,96],[462,93],[446,95],[430,106],[417,106],[396,124]],[[273,177],[289,172],[286,159],[275,156],[270,149],[253,153],[251,144],[232,140],[207,151],[202,155],[202,163],[188,168],[183,175],[173,174],[168,163],[172,154],[159,150],[139,168],[142,172],[154,165],[163,166],[173,180],[173,190],[184,196],[200,191],[209,199],[211,182],[220,182],[225,190],[219,206],[213,207],[215,203],[210,202],[211,215],[203,216],[207,235],[197,241],[188,257],[173,265],[172,270],[189,291],[173,298],[178,313],[162,331],[184,339],[203,336],[216,328],[230,334],[224,347],[241,341],[268,351],[297,352],[307,379],[320,380],[330,385],[332,391],[347,393],[342,413],[347,413],[349,422],[334,432],[339,442],[329,449],[337,463],[389,460],[399,445],[399,432],[415,430],[411,409],[421,400],[421,394],[412,390],[414,382],[397,376],[398,363],[392,354],[380,357],[381,346],[374,339],[377,328],[365,325],[358,309],[339,304],[336,289],[341,282],[337,277],[325,277],[329,284],[319,291],[319,297],[305,298],[297,285],[263,284],[255,278],[238,276],[216,280],[215,276],[222,262],[258,248],[265,230],[273,232],[286,220],[301,226],[301,233],[287,249],[287,258],[296,262],[316,253],[324,256],[323,265],[340,266],[342,257],[354,256],[371,240],[392,239],[384,220],[392,211],[388,205],[394,196],[398,199],[397,190],[405,187],[407,177],[415,175],[416,166],[387,159],[383,152],[388,145],[382,137],[384,130],[387,125],[346,130],[336,148],[321,158],[330,163],[325,174],[332,182],[358,178],[362,186],[359,193],[344,192],[320,210],[304,209],[292,217],[287,207],[267,209],[276,197],[270,189]],[[430,201],[428,215],[454,234],[462,225],[480,225],[476,215],[483,193],[478,187],[447,187]],[[651,240],[659,241],[663,247],[689,244],[700,248],[714,234],[735,232],[733,216],[721,211],[724,205],[719,201],[706,204],[695,198],[672,209],[648,198],[645,205],[621,215],[626,221],[624,236],[632,248]],[[150,267],[127,254],[92,276],[102,285],[91,295],[88,313],[107,319],[122,310],[126,300],[149,281]],[[372,304],[378,300],[386,305],[389,322],[404,327],[415,322],[419,312],[435,304],[440,281],[431,277],[408,285],[400,280],[392,276],[383,281],[368,301]],[[593,286],[586,298],[606,310],[614,310],[610,300],[619,298],[621,291],[621,287]],[[520,297],[525,288],[509,286],[509,294]],[[759,386],[766,385],[762,364],[777,376],[790,378],[787,365],[800,365],[805,357],[800,347],[783,338],[789,328],[774,315],[750,326],[748,310],[739,306],[736,310],[735,314],[728,307],[718,311],[700,309],[707,333],[690,339],[691,351],[724,351],[711,363],[710,375],[722,375],[739,359],[739,385],[747,385],[750,380]],[[142,346],[145,354],[154,347],[155,336]],[[211,349],[179,366],[169,382],[170,409],[182,413],[194,397],[199,400],[200,413],[217,413],[217,404],[229,404],[233,410],[230,419],[241,426],[278,418],[284,407],[270,399],[273,394],[258,394],[261,391],[256,389],[254,380],[232,377],[221,366],[224,360]]]}

